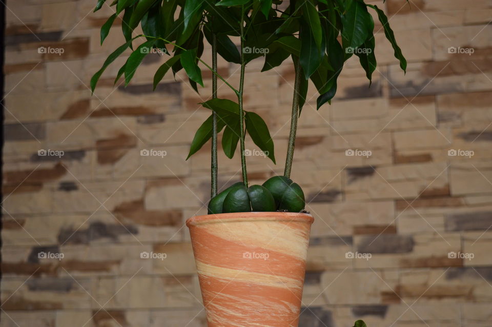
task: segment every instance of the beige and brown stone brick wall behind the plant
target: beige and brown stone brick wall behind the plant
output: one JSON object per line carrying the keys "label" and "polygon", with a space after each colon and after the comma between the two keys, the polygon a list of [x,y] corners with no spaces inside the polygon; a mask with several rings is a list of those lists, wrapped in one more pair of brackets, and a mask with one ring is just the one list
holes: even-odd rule
{"label": "beige and brown stone brick wall behind the plant", "polygon": [[[316,218],[300,326],[492,325],[492,1],[372,3],[408,70],[377,24],[371,87],[351,60],[331,106],[316,111],[310,89],[293,169]],[[199,95],[183,74],[152,92],[154,54],[113,88],[124,56],[91,96],[90,76],[122,44],[119,31],[99,44],[112,9],[7,5],[0,325],[205,326],[183,222],[209,199],[210,146],[185,158],[210,73]],[[219,67],[238,83],[237,66]],[[282,172],[294,84],[292,65],[261,67],[247,67],[245,106],[267,120],[277,165],[248,157],[252,183]],[[140,155],[151,149],[166,156]],[[239,180],[237,155],[219,165],[220,187]]]}

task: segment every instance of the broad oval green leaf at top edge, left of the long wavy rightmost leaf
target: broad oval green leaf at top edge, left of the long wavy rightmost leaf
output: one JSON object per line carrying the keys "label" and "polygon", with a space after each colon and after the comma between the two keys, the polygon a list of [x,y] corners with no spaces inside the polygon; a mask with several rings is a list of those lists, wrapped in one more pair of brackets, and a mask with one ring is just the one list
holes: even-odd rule
{"label": "broad oval green leaf at top edge, left of the long wavy rightmost leaf", "polygon": [[353,49],[360,46],[367,38],[370,29],[371,15],[366,6],[360,1],[354,1],[346,13],[342,15],[343,48]]}

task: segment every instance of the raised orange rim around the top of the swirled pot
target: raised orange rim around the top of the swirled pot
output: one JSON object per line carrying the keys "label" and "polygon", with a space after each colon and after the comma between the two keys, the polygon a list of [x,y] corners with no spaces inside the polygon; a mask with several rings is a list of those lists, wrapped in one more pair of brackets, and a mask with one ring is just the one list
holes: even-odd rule
{"label": "raised orange rim around the top of the swirled pot", "polygon": [[186,220],[186,226],[196,226],[202,223],[229,221],[300,221],[312,224],[312,215],[300,212],[232,212],[211,215],[194,216]]}

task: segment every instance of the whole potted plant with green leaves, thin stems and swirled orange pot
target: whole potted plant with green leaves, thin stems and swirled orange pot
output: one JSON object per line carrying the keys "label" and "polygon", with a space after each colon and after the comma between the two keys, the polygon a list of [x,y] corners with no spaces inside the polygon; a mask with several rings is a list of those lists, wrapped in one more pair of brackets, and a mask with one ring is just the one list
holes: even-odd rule
{"label": "whole potted plant with green leaves, thin stems and swirled orange pot", "polygon": [[[98,0],[96,10],[105,1]],[[132,53],[115,84],[124,75],[128,85],[152,49],[168,56],[155,73],[154,88],[168,71],[176,74],[184,69],[198,92],[197,85],[203,86],[198,64],[213,73],[212,98],[202,103],[211,115],[197,130],[188,155],[212,140],[208,215],[187,220],[209,326],[297,326],[313,222],[304,211],[301,187],[290,179],[297,120],[309,80],[319,92],[319,109],[334,97],[337,78],[353,55],[371,81],[376,57],[374,21],[368,8],[375,10],[401,68],[406,69],[387,17],[362,0],[291,0],[286,4],[282,0],[114,0],[111,6],[116,12],[101,28],[101,42],[121,13],[127,42],[94,74],[92,91],[106,67],[129,48]],[[134,36],[138,25],[142,33]],[[231,37],[238,38],[239,47]],[[133,49],[138,39],[143,42]],[[212,46],[211,66],[201,59],[204,40]],[[240,65],[238,86],[218,74],[217,54]],[[249,186],[245,134],[275,163],[267,124],[243,106],[246,65],[260,56],[265,60],[262,71],[292,57],[295,85],[284,175]],[[234,91],[237,101],[217,97],[217,79]],[[217,135],[222,130],[221,146],[228,157],[234,156],[239,143],[242,181],[217,194]],[[355,325],[365,324],[359,320]]]}

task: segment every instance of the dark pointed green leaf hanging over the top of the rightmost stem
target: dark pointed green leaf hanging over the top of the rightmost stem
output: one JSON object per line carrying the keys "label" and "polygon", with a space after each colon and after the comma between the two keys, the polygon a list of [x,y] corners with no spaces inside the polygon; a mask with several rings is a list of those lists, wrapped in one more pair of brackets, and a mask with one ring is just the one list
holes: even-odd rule
{"label": "dark pointed green leaf hanging over the top of the rightmost stem", "polygon": [[302,25],[299,33],[301,39],[301,67],[304,72],[305,79],[308,79],[321,65],[321,60],[324,56],[324,50],[321,52],[316,45],[313,34],[306,24]]}

